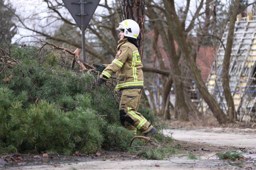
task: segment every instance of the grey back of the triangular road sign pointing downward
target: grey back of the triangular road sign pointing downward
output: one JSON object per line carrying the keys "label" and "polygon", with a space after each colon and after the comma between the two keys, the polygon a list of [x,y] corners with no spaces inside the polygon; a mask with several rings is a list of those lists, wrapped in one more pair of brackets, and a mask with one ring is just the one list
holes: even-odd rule
{"label": "grey back of the triangular road sign pointing downward", "polygon": [[[62,0],[70,12],[71,16],[76,21],[81,30],[81,2],[80,0]],[[85,29],[89,24],[91,17],[99,5],[100,0],[84,0],[84,15],[85,15]]]}

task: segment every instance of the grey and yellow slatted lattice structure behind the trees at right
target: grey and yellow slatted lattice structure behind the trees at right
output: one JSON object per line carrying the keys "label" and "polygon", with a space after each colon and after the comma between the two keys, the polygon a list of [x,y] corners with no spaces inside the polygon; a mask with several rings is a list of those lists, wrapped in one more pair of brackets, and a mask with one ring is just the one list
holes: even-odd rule
{"label": "grey and yellow slatted lattice structure behind the trees at right", "polygon": [[[241,114],[240,119],[252,115],[255,117],[256,101],[256,16],[249,12],[247,17],[238,15],[235,23],[233,45],[230,59],[230,90],[234,100],[235,111]],[[227,45],[228,26],[223,34],[222,42]],[[217,100],[221,109],[227,113],[227,102],[222,88],[222,64],[225,50],[220,44],[213,62],[206,86],[209,93]],[[207,103],[200,99],[198,110],[205,112]],[[244,116],[245,115],[245,116]]]}

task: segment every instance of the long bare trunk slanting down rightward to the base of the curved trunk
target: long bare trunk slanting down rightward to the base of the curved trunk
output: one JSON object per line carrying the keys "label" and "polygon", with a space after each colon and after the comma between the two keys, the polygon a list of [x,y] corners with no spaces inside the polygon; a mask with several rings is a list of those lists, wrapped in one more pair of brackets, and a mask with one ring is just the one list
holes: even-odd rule
{"label": "long bare trunk slanting down rightward to the base of the curved trunk", "polygon": [[[170,30],[175,37],[175,40],[177,41],[179,47],[181,48],[181,51],[185,54],[185,59],[187,61],[187,64],[189,66],[189,69],[193,75],[193,79],[200,91],[200,94],[202,95],[203,99],[208,104],[209,108],[211,109],[213,115],[216,117],[218,122],[220,124],[226,123],[226,115],[223,113],[221,108],[219,107],[218,103],[215,101],[215,99],[209,94],[202,78],[200,75],[199,70],[197,69],[196,62],[194,61],[193,57],[189,53],[188,44],[186,42],[186,38],[184,36],[184,33],[182,31],[182,28],[180,27],[180,23],[178,20],[178,16],[175,11],[174,1],[171,0],[171,2],[168,4],[167,1],[165,2],[166,8],[170,8],[170,18],[167,18],[167,22],[169,24]],[[177,96],[178,97],[178,96]]]}

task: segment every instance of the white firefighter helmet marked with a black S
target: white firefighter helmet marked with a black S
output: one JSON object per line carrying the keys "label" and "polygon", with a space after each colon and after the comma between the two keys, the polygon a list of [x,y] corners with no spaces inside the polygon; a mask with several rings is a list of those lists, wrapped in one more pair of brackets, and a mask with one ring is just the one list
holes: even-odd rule
{"label": "white firefighter helmet marked with a black S", "polygon": [[140,27],[138,23],[131,19],[126,19],[119,23],[118,31],[124,30],[124,35],[127,37],[136,38],[140,33]]}

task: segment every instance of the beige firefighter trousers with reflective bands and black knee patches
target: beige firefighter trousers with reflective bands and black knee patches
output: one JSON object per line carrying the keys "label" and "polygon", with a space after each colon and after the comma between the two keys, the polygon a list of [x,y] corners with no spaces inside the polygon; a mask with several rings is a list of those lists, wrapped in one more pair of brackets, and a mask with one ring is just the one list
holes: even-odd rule
{"label": "beige firefighter trousers with reflective bands and black knee patches", "polygon": [[139,113],[139,103],[142,88],[124,89],[119,105],[120,121],[123,126],[128,128],[133,134],[137,129],[145,134],[153,126]]}

